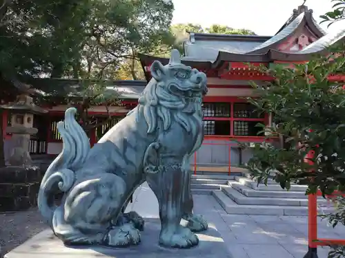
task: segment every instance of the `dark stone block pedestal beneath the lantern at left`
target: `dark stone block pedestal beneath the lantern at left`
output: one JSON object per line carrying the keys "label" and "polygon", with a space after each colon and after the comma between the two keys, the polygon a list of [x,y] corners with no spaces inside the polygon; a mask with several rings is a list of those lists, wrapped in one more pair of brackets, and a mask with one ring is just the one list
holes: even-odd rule
{"label": "dark stone block pedestal beneath the lantern at left", "polygon": [[37,206],[42,173],[37,166],[0,168],[0,212]]}

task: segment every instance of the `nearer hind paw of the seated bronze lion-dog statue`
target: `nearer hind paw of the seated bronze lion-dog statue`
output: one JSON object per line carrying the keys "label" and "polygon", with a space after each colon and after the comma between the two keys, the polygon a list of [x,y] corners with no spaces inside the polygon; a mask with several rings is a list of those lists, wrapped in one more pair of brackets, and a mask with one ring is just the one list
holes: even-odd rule
{"label": "nearer hind paw of the seated bronze lion-dog statue", "polygon": [[112,247],[126,247],[140,243],[140,232],[132,223],[109,230],[106,244]]}

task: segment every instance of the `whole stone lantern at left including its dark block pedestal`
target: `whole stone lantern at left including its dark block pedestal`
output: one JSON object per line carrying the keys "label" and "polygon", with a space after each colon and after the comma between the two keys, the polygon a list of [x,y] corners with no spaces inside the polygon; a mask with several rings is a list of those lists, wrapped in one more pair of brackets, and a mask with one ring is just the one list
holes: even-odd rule
{"label": "whole stone lantern at left including its dark block pedestal", "polygon": [[32,103],[32,98],[20,95],[17,101],[0,105],[12,114],[12,133],[9,166],[0,168],[0,211],[21,211],[37,206],[37,194],[42,179],[39,166],[33,166],[29,154],[30,136],[37,133],[33,128],[34,114],[47,111]]}

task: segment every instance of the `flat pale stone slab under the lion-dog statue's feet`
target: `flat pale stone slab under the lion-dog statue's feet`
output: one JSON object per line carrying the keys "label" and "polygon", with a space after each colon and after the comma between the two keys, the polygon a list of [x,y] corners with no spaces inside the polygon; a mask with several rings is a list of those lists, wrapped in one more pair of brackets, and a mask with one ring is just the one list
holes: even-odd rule
{"label": "flat pale stone slab under the lion-dog statue's feet", "polygon": [[68,248],[51,230],[45,230],[5,255],[4,258],[231,258],[226,244],[215,228],[197,234],[199,245],[190,249],[163,248],[158,244],[158,219],[145,219],[141,243],[129,248],[80,247]]}

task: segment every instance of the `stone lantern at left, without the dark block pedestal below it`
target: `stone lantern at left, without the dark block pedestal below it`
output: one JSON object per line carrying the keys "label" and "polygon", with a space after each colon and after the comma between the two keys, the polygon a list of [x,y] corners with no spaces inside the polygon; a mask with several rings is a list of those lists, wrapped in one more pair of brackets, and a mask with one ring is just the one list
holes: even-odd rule
{"label": "stone lantern at left, without the dark block pedestal below it", "polygon": [[33,127],[34,114],[47,111],[35,105],[32,98],[27,95],[20,95],[16,102],[0,107],[11,113],[11,125],[6,128],[6,133],[12,133],[8,160],[10,166],[30,166],[32,164],[29,153],[30,136],[38,131]]}

